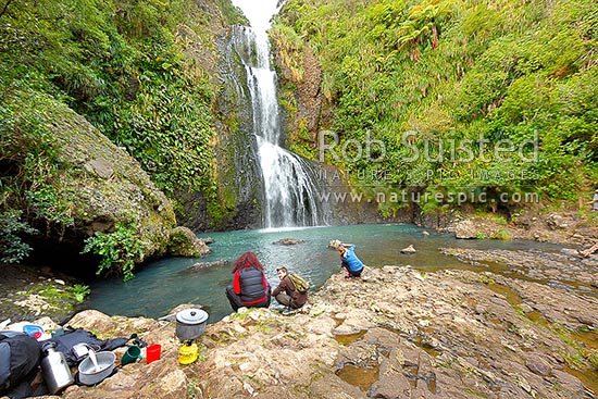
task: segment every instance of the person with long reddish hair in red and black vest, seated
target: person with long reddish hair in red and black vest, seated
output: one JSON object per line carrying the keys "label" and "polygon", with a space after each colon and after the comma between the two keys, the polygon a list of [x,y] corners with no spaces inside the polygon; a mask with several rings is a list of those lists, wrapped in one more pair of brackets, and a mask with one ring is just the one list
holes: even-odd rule
{"label": "person with long reddish hair in red and black vest, seated", "polygon": [[226,287],[226,297],[236,312],[239,308],[270,307],[271,290],[264,266],[254,252],[242,253],[233,265],[233,283]]}

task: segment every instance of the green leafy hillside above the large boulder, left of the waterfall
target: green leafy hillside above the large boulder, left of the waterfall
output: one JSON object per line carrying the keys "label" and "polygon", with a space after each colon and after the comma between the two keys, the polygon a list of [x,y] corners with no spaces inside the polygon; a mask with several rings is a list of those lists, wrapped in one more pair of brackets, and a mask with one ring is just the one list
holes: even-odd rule
{"label": "green leafy hillside above the large boulder, left of the waterfall", "polygon": [[[213,89],[184,52],[187,1],[5,1],[2,87],[50,92],[125,147],[166,192],[205,189]],[[199,30],[199,29],[198,29]]]}

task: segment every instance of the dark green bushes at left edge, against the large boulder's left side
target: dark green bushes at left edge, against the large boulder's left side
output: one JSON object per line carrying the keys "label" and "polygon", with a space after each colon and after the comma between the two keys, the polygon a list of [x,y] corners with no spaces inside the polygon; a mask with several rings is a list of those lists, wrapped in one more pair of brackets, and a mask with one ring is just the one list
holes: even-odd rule
{"label": "dark green bushes at left edge, against the large boulder's left side", "polygon": [[[9,82],[0,102],[0,232],[4,262],[18,262],[32,248],[21,236],[43,233],[62,237],[74,224],[68,195],[49,125],[60,113],[59,101],[36,92],[25,80]],[[38,227],[33,228],[32,225]]]}

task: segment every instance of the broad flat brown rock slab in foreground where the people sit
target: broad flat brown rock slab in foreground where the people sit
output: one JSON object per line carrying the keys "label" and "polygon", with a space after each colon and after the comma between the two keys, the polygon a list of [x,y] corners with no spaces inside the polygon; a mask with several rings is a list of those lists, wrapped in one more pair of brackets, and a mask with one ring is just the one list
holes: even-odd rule
{"label": "broad flat brown rock slab in foreground where the people sit", "polygon": [[[500,294],[508,284],[523,303]],[[172,323],[86,311],[70,324],[137,333],[162,359],[63,397],[582,399],[596,389],[597,312],[594,297],[490,273],[369,267],[333,275],[294,315],[241,310],[209,325],[199,360],[182,366]]]}

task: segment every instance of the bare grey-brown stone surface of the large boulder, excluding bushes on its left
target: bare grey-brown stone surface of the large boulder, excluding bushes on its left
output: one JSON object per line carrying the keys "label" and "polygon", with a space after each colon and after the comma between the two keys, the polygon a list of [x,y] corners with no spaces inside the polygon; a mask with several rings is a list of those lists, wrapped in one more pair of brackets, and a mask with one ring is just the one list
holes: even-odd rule
{"label": "bare grey-brown stone surface of the large boulder, excluding bushes on its left", "polygon": [[173,205],[139,163],[66,107],[53,126],[64,171],[55,189],[70,199],[75,225],[91,236],[128,223],[145,244],[144,258],[163,253],[176,226]]}

